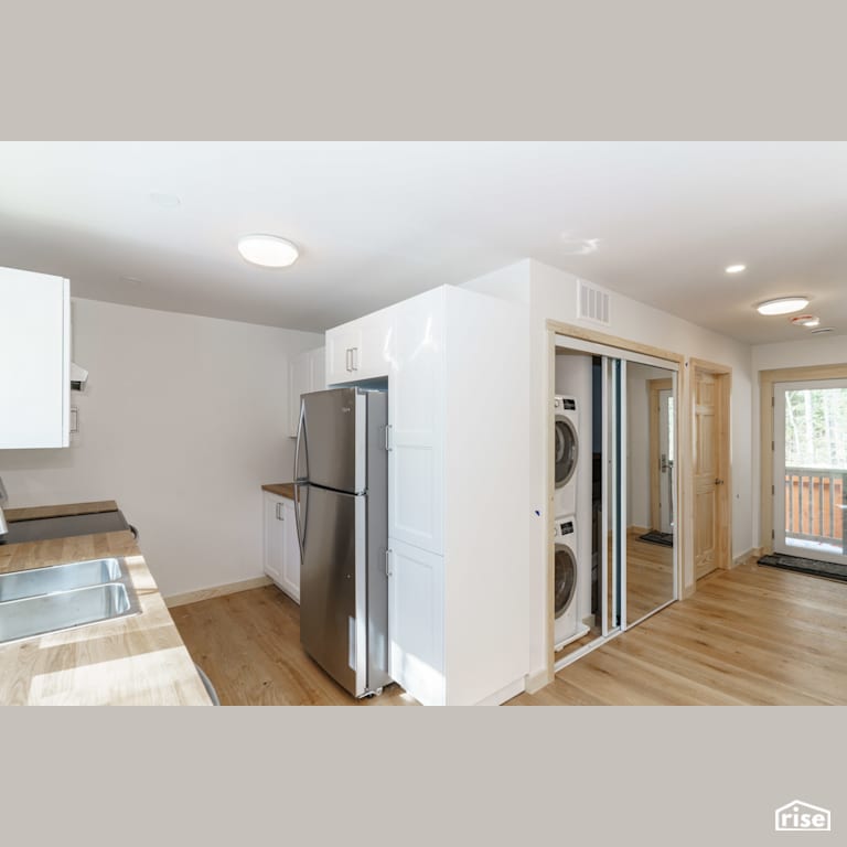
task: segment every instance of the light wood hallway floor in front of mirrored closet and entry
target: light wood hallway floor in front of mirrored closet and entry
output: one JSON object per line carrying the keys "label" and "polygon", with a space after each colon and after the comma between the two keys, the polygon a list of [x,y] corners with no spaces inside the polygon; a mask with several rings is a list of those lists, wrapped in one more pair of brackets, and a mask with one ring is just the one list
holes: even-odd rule
{"label": "light wood hallway floor in front of mirrored closet and entry", "polygon": [[515,706],[847,705],[847,583],[742,565]]}

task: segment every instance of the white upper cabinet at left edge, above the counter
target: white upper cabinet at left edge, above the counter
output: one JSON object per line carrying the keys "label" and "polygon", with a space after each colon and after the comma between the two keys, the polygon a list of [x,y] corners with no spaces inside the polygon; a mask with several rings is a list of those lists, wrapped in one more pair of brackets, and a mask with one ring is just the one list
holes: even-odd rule
{"label": "white upper cabinet at left edge, above the counter", "polygon": [[68,280],[0,268],[0,449],[67,447]]}

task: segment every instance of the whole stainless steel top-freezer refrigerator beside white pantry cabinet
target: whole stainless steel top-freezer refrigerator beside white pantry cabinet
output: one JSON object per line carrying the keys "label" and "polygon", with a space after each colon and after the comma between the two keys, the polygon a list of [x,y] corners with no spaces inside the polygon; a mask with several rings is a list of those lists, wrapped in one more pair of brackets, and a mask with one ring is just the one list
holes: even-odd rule
{"label": "whole stainless steel top-freezer refrigerator beside white pantry cabinet", "polygon": [[294,457],[300,642],[356,697],[388,676],[387,395],[304,394]]}

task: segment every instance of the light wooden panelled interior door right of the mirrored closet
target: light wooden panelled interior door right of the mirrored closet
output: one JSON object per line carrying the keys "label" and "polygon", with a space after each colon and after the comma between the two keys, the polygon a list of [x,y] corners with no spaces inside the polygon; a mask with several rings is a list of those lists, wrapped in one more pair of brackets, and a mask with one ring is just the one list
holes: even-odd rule
{"label": "light wooden panelled interior door right of the mirrored closet", "polygon": [[694,378],[694,568],[697,579],[715,570],[718,548],[718,384],[714,374]]}

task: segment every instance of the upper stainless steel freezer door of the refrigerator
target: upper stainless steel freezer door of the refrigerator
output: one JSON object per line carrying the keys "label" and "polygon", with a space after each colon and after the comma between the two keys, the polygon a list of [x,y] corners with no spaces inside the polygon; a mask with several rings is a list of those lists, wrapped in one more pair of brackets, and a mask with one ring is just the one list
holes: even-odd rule
{"label": "upper stainless steel freezer door of the refrigerator", "polygon": [[302,404],[297,481],[335,491],[364,491],[364,395],[355,388],[333,388],[305,394]]}

